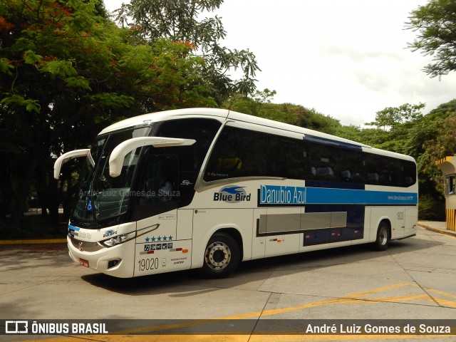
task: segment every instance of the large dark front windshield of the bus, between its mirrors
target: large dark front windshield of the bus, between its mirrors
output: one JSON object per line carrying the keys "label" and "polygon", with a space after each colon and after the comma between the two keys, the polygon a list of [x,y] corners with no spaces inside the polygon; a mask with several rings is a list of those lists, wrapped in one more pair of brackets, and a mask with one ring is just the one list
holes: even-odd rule
{"label": "large dark front windshield of the bus, between its mirrors", "polygon": [[120,142],[145,136],[149,132],[150,127],[142,127],[97,137],[81,172],[81,185],[73,219],[88,222],[92,226],[97,225],[99,220],[119,217],[126,212],[140,148],[125,156],[119,177],[109,175],[109,156]]}

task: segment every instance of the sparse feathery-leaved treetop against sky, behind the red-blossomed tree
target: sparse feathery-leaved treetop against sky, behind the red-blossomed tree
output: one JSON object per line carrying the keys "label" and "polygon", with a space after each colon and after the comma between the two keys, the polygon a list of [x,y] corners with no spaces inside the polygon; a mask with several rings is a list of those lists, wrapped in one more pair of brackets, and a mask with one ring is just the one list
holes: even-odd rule
{"label": "sparse feathery-leaved treetop against sky, behind the red-blossomed tree", "polygon": [[[192,44],[188,51],[204,58],[204,67],[193,81],[212,89],[217,103],[233,93],[247,95],[255,90],[254,76],[259,71],[254,54],[248,49],[221,46],[226,31],[218,16],[203,14],[219,9],[222,0],[132,0],[118,9],[117,20],[124,26],[134,26],[142,38],[151,43],[169,38]],[[131,21],[131,22],[130,22]],[[242,77],[234,80],[231,71],[240,69]]]}

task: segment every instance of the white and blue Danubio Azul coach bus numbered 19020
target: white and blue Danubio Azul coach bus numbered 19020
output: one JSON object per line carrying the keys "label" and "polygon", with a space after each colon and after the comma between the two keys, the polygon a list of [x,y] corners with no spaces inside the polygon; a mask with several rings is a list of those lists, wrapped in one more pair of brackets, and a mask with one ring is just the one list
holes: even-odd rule
{"label": "white and blue Danubio Azul coach bus numbered 19020", "polygon": [[240,261],[415,235],[415,160],[230,110],[128,118],[84,157],[68,226],[71,259],[118,277],[199,269],[228,276]]}

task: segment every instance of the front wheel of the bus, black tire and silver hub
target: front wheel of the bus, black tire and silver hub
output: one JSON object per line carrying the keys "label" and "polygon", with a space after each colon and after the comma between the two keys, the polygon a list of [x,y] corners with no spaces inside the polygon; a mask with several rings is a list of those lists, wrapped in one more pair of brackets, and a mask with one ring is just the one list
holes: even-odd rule
{"label": "front wheel of the bus, black tire and silver hub", "polygon": [[204,249],[204,264],[199,273],[205,278],[226,278],[237,268],[240,253],[236,240],[219,232],[212,235]]}

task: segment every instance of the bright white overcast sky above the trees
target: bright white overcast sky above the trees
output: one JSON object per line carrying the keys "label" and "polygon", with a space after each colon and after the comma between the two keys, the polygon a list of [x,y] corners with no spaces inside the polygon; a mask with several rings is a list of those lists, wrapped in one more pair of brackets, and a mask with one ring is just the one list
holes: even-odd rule
{"label": "bright white overcast sky above the trees", "polygon": [[[113,11],[128,1],[104,2]],[[456,98],[456,73],[430,78],[432,57],[407,48],[417,33],[405,23],[427,2],[225,0],[213,14],[227,31],[222,46],[254,53],[257,89],[276,90],[273,103],[362,127],[387,107],[425,103],[427,113]]]}

